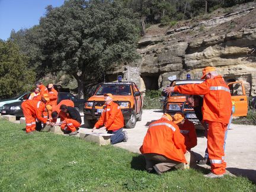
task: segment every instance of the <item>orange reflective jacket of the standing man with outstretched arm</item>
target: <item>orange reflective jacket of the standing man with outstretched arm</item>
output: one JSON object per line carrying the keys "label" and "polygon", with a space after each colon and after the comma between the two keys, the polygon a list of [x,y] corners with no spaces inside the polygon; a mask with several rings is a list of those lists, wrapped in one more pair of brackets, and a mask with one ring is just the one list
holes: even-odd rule
{"label": "orange reflective jacket of the standing man with outstretched arm", "polygon": [[190,95],[204,95],[203,120],[229,123],[232,110],[231,94],[222,76],[206,79],[201,84],[187,84],[174,87],[175,92]]}

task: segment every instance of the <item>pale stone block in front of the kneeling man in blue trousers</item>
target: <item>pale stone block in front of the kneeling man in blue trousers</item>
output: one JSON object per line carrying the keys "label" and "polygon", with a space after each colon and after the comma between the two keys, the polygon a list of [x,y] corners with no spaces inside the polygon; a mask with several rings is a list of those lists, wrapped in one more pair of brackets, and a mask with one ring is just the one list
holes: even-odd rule
{"label": "pale stone block in front of the kneeling man in blue trousers", "polygon": [[94,142],[98,145],[110,145],[110,137],[111,135],[101,136],[97,133],[80,133],[80,139],[84,139],[88,142]]}

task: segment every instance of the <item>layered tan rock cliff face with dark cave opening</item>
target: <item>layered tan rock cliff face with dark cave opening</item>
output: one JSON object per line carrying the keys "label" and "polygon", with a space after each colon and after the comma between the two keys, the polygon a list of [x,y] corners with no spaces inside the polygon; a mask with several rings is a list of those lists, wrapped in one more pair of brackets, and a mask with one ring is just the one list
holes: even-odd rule
{"label": "layered tan rock cliff face with dark cave opening", "polygon": [[201,69],[216,66],[225,79],[244,81],[247,94],[256,95],[256,3],[215,14],[179,27],[153,25],[138,43],[141,59],[119,66],[112,74],[136,67],[141,86],[161,89],[169,85],[168,76],[185,79],[190,73],[191,79],[198,79]]}

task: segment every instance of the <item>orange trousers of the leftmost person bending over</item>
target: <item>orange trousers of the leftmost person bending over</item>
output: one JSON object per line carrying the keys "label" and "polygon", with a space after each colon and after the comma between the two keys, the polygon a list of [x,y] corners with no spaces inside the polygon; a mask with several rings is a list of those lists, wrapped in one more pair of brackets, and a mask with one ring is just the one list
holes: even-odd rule
{"label": "orange trousers of the leftmost person bending over", "polygon": [[36,114],[33,114],[29,108],[26,107],[26,104],[21,104],[23,109],[23,114],[26,122],[26,132],[33,132],[36,130]]}

